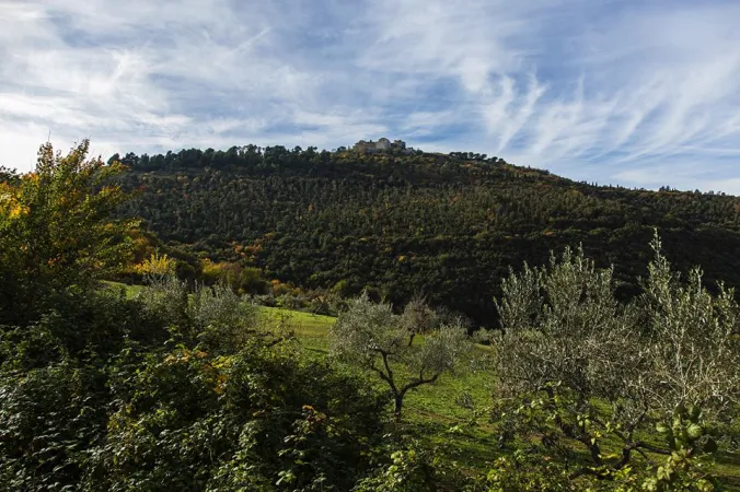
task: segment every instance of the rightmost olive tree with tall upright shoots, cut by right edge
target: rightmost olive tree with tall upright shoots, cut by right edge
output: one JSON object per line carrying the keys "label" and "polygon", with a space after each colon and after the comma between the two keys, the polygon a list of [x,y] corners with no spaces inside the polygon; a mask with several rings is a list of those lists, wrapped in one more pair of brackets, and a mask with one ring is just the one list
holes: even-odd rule
{"label": "rightmost olive tree with tall upright shoots, cut by right edge", "polygon": [[652,407],[670,411],[698,406],[718,417],[740,401],[740,306],[732,289],[718,285],[713,295],[694,268],[685,281],[671,271],[652,243],[645,294],[636,308],[646,340],[650,378],[644,378]]}

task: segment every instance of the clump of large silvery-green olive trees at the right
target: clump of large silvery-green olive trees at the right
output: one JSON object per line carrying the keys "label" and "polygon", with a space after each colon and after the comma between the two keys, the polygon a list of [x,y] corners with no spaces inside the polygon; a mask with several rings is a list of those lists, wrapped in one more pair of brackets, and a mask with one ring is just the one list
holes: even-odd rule
{"label": "clump of large silvery-green olive trees at the right", "polygon": [[[499,390],[504,400],[529,395],[529,425],[536,420],[532,411],[546,413],[535,431],[551,448],[567,455],[563,440],[585,446],[592,466],[574,477],[614,477],[634,454],[651,464],[650,454],[673,456],[678,447],[687,456],[712,452],[716,443],[706,424],[737,406],[740,308],[733,292],[720,285],[710,294],[698,269],[682,282],[657,237],[651,246],[644,294],[631,303],[616,301],[612,269],[597,269],[580,249],[552,256],[544,267],[524,266],[502,283]],[[656,424],[666,446],[639,437]],[[603,448],[606,434],[621,443],[611,456]]]}

